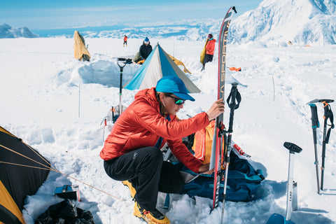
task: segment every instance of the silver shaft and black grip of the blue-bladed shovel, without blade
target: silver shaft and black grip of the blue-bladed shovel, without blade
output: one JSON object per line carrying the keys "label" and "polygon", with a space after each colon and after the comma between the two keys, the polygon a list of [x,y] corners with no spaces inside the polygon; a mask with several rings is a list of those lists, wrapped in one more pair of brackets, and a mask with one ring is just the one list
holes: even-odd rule
{"label": "silver shaft and black grip of the blue-bladed shovel, without blade", "polygon": [[287,181],[287,206],[286,206],[286,221],[290,221],[290,216],[292,215],[292,203],[293,203],[293,165],[294,160],[291,155],[295,153],[300,153],[302,148],[299,146],[285,142],[283,146],[289,150],[289,161],[288,161],[288,181]]}

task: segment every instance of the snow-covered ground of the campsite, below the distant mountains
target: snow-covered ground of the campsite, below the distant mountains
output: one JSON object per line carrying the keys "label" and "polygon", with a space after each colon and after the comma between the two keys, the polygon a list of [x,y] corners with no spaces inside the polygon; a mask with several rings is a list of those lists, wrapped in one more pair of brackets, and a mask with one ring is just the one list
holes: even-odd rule
{"label": "snow-covered ground of the campsite, below the distant mountains", "polygon": [[[90,62],[73,59],[72,38],[0,39],[0,125],[36,148],[60,172],[94,188],[115,195],[116,200],[99,190],[50,172],[48,180],[34,196],[27,198],[23,214],[27,224],[60,200],[54,197],[57,186],[78,185],[83,202],[81,209],[94,215],[95,223],[144,223],[132,215],[129,190],[104,172],[99,152],[104,144],[102,119],[111,106],[119,103],[120,69],[116,57],[132,57],[142,39],[130,38],[123,48],[120,38],[85,38],[92,55]],[[217,55],[204,71],[199,62],[204,42],[153,39],[170,55],[181,59],[189,76],[202,92],[193,94],[195,102],[186,102],[180,118],[207,111],[216,99]],[[229,41],[230,42],[230,41]],[[216,45],[217,50],[217,45]],[[336,46],[304,45],[228,45],[227,65],[241,67],[240,72],[227,69],[240,83],[241,105],[235,111],[233,139],[252,160],[265,167],[267,178],[262,193],[253,202],[226,202],[227,223],[266,223],[273,213],[286,214],[288,150],[284,141],[302,148],[293,156],[297,181],[298,210],[295,223],[336,222],[336,131],[332,130],[325,159],[323,195],[316,190],[314,144],[311,112],[312,99],[336,98]],[[124,83],[139,65],[125,66]],[[225,85],[226,96],[230,84]],[[123,104],[128,106],[137,90],[123,90]],[[318,118],[323,126],[322,104]],[[335,109],[334,104],[331,104]],[[228,106],[225,124],[228,125]],[[318,153],[321,164],[323,127],[318,129]],[[209,214],[211,200],[187,195],[173,195],[169,210],[158,208],[172,223],[218,223],[221,205]]]}

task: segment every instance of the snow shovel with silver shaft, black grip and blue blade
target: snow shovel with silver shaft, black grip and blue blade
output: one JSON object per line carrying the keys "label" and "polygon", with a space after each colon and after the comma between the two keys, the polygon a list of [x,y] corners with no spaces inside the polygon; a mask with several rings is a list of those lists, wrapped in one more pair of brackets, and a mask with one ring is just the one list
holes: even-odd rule
{"label": "snow shovel with silver shaft, black grip and blue blade", "polygon": [[292,205],[293,205],[293,163],[294,160],[291,158],[291,155],[295,153],[300,153],[302,148],[299,146],[285,142],[283,144],[285,148],[289,150],[289,162],[288,162],[288,182],[287,182],[287,206],[286,206],[286,218],[281,216],[280,214],[272,214],[269,217],[266,224],[295,224],[290,221],[290,217],[292,215]]}

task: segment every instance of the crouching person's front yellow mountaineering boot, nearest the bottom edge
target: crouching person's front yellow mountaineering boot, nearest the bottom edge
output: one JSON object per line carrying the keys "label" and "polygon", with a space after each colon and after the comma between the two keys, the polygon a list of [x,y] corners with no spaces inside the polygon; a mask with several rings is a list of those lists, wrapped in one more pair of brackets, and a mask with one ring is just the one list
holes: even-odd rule
{"label": "crouching person's front yellow mountaineering boot, nearest the bottom edge", "polygon": [[145,209],[141,209],[137,202],[134,204],[133,215],[139,218],[144,218],[144,220],[150,224],[170,224],[169,219],[158,211],[158,209],[155,209],[154,211],[146,211]]}

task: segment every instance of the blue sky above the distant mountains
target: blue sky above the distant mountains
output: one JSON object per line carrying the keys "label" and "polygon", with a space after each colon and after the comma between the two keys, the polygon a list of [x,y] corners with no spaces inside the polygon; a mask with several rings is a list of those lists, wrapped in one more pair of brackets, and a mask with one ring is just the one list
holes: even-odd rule
{"label": "blue sky above the distant mountains", "polygon": [[[237,0],[239,15],[262,0]],[[0,24],[29,29],[113,25],[118,21],[221,18],[232,3],[225,0],[1,0]]]}

